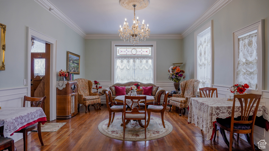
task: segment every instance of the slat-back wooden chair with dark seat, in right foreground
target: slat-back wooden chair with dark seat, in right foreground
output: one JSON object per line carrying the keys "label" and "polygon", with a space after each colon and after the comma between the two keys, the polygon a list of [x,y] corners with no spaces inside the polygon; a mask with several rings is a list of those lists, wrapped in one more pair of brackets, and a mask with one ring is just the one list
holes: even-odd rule
{"label": "slat-back wooden chair with dark seat, in right foreground", "polygon": [[[241,116],[238,118],[234,118],[235,115],[235,102],[238,100],[241,106]],[[232,114],[231,118],[217,118],[216,124],[222,129],[222,135],[224,137],[224,141],[229,146],[230,151],[232,151],[232,144],[233,144],[233,133],[238,134],[249,134],[250,135],[250,145],[252,151],[254,151],[254,142],[253,142],[253,132],[254,132],[254,123],[257,115],[257,111],[259,108],[261,100],[261,95],[257,94],[241,94],[241,95],[234,95],[233,96],[233,107],[232,107]],[[255,104],[256,103],[256,104]],[[254,108],[255,105],[255,108]],[[249,118],[250,113],[254,108],[254,112],[252,118]],[[230,142],[226,138],[226,134],[223,130],[230,132]]]}

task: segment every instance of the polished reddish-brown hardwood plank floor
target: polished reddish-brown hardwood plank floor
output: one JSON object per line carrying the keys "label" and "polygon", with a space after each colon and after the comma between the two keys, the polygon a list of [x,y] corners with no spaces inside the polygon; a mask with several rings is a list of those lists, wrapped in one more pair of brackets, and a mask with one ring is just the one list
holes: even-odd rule
{"label": "polished reddish-brown hardwood plank floor", "polygon": [[[79,113],[68,120],[54,120],[54,122],[66,122],[57,132],[42,132],[44,146],[41,146],[37,132],[28,135],[28,151],[35,150],[147,150],[147,151],[202,151],[202,150],[229,150],[224,143],[220,132],[217,132],[216,142],[206,140],[206,134],[194,124],[188,124],[188,111],[179,116],[179,111],[168,109],[165,111],[164,120],[170,122],[173,130],[167,136],[150,141],[121,141],[109,138],[98,130],[98,124],[108,119],[108,110],[104,105],[90,106],[85,113],[85,107],[81,106]],[[121,116],[116,113],[115,116]],[[151,116],[159,117],[160,114],[151,113]],[[17,141],[15,146],[18,151],[23,150],[23,139]],[[251,146],[240,138],[239,143],[233,139],[233,147],[236,150],[251,150]]]}

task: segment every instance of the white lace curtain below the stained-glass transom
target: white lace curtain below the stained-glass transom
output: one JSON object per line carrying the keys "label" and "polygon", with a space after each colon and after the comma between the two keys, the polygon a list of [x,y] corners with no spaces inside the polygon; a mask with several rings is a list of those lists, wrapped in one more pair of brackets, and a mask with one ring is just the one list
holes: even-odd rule
{"label": "white lace curtain below the stained-glass transom", "polygon": [[116,81],[153,83],[152,58],[116,58]]}

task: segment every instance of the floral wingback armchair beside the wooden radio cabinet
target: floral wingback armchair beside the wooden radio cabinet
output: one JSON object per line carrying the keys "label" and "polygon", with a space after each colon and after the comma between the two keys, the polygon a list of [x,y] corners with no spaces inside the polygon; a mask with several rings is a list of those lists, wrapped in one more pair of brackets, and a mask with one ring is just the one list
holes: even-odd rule
{"label": "floral wingback armchair beside the wooden radio cabinet", "polygon": [[98,103],[99,108],[101,109],[101,99],[99,93],[93,93],[91,90],[93,88],[93,82],[83,78],[75,79],[75,81],[77,81],[77,103],[85,106],[85,113],[87,113],[87,106],[89,109],[90,104]]}

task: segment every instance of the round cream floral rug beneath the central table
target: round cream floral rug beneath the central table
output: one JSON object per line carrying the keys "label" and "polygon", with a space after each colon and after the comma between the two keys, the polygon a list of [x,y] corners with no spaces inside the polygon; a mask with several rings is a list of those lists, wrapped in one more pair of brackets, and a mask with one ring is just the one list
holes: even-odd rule
{"label": "round cream floral rug beneath the central table", "polygon": [[[145,139],[145,129],[140,127],[138,124],[138,121],[131,120],[130,123],[126,125],[125,129],[125,139],[123,139],[123,126],[121,126],[122,123],[122,117],[117,116],[114,118],[113,123],[108,125],[108,120],[106,119],[102,121],[98,125],[99,131],[114,139],[124,140],[124,141],[148,141],[153,140],[157,138],[164,137],[168,135],[172,130],[172,125],[164,120],[165,128],[162,125],[161,118],[157,117],[150,117],[150,124],[147,127],[147,139]],[[142,120],[142,124],[144,125],[144,120]]]}

